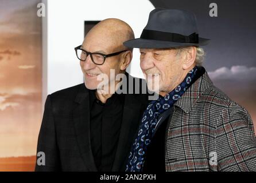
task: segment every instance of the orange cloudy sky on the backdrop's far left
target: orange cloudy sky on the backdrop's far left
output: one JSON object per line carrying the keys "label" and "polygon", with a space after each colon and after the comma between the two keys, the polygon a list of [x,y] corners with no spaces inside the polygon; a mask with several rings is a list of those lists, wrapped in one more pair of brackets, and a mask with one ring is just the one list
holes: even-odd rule
{"label": "orange cloudy sky on the backdrop's far left", "polygon": [[38,2],[0,0],[0,157],[36,154],[42,117]]}

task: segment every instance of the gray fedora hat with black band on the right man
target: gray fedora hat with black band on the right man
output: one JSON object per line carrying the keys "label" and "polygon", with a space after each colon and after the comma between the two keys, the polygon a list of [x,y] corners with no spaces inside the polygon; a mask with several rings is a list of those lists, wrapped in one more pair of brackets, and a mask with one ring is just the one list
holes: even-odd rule
{"label": "gray fedora hat with black band on the right man", "polygon": [[177,9],[154,9],[143,29],[141,37],[123,43],[127,47],[168,48],[179,46],[203,46],[210,39],[200,38],[195,14]]}

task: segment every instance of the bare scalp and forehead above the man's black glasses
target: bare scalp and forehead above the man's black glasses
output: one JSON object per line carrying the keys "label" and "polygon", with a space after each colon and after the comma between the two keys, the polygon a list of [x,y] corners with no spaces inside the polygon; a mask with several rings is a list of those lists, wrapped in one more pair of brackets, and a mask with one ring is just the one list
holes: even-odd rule
{"label": "bare scalp and forehead above the man's black glasses", "polygon": [[134,39],[134,33],[126,22],[117,18],[108,18],[92,27],[84,38],[83,45],[96,43],[109,46],[113,49],[110,51],[129,50],[123,46],[123,42],[130,39]]}

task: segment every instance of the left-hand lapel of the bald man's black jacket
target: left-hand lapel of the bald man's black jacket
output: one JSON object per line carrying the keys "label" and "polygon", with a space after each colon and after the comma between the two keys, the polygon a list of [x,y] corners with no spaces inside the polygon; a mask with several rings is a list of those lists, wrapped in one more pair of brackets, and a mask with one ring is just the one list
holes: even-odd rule
{"label": "left-hand lapel of the bald man's black jacket", "polygon": [[91,150],[90,96],[86,86],[81,85],[73,108],[73,124],[80,154],[87,169],[96,172],[97,168]]}

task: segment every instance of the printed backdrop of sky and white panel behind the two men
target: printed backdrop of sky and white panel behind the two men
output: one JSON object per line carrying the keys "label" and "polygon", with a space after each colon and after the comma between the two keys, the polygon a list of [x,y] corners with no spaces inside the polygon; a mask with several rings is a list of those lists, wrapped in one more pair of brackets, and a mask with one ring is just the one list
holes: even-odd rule
{"label": "printed backdrop of sky and white panel behind the two men", "polygon": [[[119,18],[139,37],[154,7],[185,9],[210,38],[204,67],[212,81],[244,106],[256,125],[255,1],[216,0],[0,0],[0,171],[33,171],[47,94],[83,82],[74,47],[92,22]],[[38,3],[45,17],[38,17]],[[139,52],[128,72],[143,77]]]}

